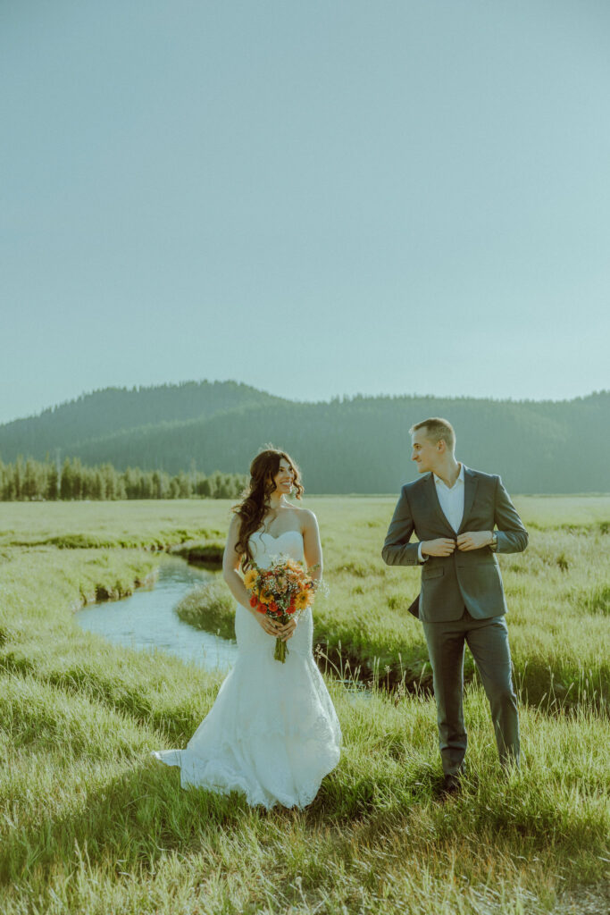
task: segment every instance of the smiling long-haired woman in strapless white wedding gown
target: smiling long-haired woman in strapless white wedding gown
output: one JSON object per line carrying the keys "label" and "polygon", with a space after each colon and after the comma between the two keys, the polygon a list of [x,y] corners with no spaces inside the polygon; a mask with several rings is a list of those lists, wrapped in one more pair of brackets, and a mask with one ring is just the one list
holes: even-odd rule
{"label": "smiling long-haired woman in strapless white wedding gown", "polygon": [[[153,756],[180,767],[182,787],[227,794],[240,791],[251,806],[305,807],[337,766],[341,731],[312,654],[311,608],[285,625],[250,605],[240,574],[273,557],[305,560],[319,584],[322,547],[316,515],[287,501],[303,486],[294,461],[269,448],[251,463],[250,489],[235,512],[224,552],[223,576],[237,600],[238,655],[216,702],[185,749]],[[275,661],[276,639],[289,640],[285,663]]]}

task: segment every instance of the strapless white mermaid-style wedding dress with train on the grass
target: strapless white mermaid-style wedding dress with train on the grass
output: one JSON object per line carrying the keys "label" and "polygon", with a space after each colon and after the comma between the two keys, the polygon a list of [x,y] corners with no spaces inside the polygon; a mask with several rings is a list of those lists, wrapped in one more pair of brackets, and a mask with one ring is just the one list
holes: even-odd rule
{"label": "strapless white mermaid-style wedding dress with train on the grass", "polygon": [[[303,537],[257,531],[250,539],[256,565],[278,554],[303,560]],[[183,788],[228,794],[240,791],[251,806],[305,807],[324,776],[337,766],[341,730],[312,654],[311,608],[286,642],[285,663],[275,661],[275,638],[241,604],[235,613],[238,655],[216,702],[185,749],[153,756],[180,767]]]}

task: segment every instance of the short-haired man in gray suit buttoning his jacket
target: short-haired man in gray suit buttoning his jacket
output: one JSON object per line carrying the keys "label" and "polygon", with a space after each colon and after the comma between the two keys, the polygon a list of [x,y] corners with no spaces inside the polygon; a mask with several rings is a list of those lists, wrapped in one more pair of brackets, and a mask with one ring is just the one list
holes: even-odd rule
{"label": "short-haired man in gray suit buttoning his jacket", "polygon": [[[412,460],[425,476],[402,487],[381,555],[387,565],[423,566],[419,617],[433,669],[444,791],[454,793],[466,755],[465,642],[491,706],[500,762],[519,766],[508,608],[496,553],[520,553],[528,533],[501,479],[455,460],[451,423],[425,419],[409,431]],[[413,533],[419,544],[409,543]]]}

